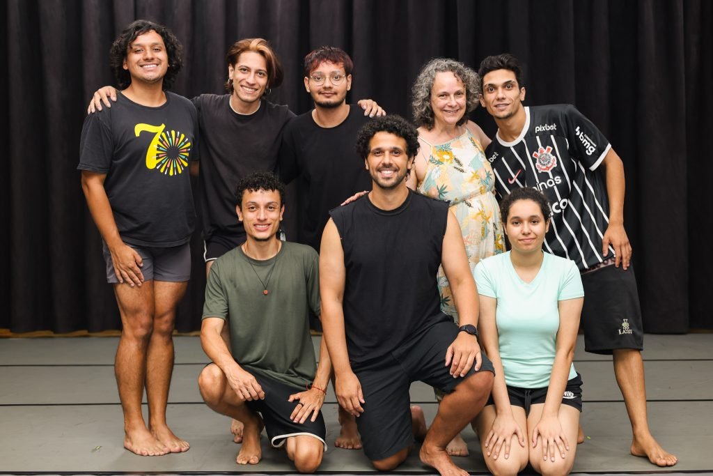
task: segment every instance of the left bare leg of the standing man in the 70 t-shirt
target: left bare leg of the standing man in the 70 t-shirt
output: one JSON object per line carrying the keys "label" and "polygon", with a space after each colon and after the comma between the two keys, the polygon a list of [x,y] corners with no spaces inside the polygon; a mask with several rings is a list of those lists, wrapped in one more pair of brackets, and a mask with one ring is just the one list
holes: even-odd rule
{"label": "left bare leg of the standing man in the 70 t-shirt", "polygon": [[141,456],[165,455],[168,448],[151,434],[141,413],[146,355],[153,333],[153,280],[140,288],[116,284],[114,294],[122,323],[114,373],[124,413],[124,447]]}

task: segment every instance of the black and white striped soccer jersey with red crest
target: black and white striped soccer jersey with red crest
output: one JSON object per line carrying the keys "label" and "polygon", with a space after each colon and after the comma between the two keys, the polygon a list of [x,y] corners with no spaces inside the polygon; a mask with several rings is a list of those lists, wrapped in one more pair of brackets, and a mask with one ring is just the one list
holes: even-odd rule
{"label": "black and white striped soccer jersey with red crest", "polygon": [[611,258],[611,246],[602,255],[609,201],[604,173],[597,170],[609,141],[570,104],[525,107],[525,116],[515,141],[498,133],[486,150],[498,195],[518,187],[542,191],[553,211],[545,249],[574,260],[580,270]]}

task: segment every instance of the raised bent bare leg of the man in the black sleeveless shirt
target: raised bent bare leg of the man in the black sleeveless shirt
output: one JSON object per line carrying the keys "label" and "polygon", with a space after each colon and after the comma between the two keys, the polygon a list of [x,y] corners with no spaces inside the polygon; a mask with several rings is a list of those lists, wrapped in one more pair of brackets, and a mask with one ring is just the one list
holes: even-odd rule
{"label": "raised bent bare leg of the man in the black sleeveless shirt", "polygon": [[436,468],[441,476],[468,475],[468,472],[453,464],[446,452],[446,445],[482,410],[491,388],[493,374],[483,371],[466,378],[456,390],[443,397],[431,429],[421,446],[420,456],[424,464]]}

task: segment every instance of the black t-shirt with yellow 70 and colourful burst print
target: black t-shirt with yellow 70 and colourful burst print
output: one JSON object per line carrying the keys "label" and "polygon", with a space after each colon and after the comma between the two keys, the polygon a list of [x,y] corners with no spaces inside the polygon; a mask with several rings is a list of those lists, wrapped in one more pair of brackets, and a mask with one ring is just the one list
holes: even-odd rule
{"label": "black t-shirt with yellow 70 and colourful burst print", "polygon": [[156,108],[118,93],[111,108],[89,114],[79,170],[106,173],[104,189],[121,239],[168,248],[188,243],[195,224],[190,161],[198,160],[198,116],[183,96],[166,92]]}

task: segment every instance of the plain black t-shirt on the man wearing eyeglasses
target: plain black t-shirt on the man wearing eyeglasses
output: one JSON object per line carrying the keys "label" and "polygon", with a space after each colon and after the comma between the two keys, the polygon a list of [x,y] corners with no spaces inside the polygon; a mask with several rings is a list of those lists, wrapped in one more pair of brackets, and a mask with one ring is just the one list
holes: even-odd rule
{"label": "plain black t-shirt on the man wearing eyeglasses", "polygon": [[359,106],[349,106],[339,126],[321,127],[309,111],[284,128],[279,176],[284,183],[299,177],[299,243],[319,251],[329,210],[356,192],[371,190],[364,158],[354,148],[356,133],[368,121]]}

